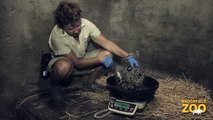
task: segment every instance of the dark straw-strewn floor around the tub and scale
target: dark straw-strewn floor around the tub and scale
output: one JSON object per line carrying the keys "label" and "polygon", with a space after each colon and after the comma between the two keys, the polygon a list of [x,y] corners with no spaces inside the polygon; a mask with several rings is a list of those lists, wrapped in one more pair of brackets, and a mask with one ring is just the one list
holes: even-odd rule
{"label": "dark straw-strewn floor around the tub and scale", "polygon": [[[134,117],[110,113],[101,120],[141,120],[141,119],[213,119],[213,102],[208,90],[186,78],[174,78],[147,72],[155,77],[160,86],[155,97],[145,109],[136,112]],[[107,76],[97,79],[97,83],[106,86]],[[81,88],[81,84],[64,89],[62,103],[51,101],[50,91],[34,93],[16,103],[15,120],[95,120],[94,114],[107,108],[109,92],[90,91]],[[206,100],[207,111],[200,115],[182,113],[182,100]]]}

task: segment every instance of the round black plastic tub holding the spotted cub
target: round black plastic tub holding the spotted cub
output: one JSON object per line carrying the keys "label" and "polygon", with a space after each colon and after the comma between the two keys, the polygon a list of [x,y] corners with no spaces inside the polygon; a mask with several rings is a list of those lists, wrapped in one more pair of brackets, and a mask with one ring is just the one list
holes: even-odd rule
{"label": "round black plastic tub holding the spotted cub", "polygon": [[107,78],[107,89],[112,97],[130,102],[150,101],[159,87],[157,80],[145,76],[141,89],[127,90],[116,85],[115,76]]}

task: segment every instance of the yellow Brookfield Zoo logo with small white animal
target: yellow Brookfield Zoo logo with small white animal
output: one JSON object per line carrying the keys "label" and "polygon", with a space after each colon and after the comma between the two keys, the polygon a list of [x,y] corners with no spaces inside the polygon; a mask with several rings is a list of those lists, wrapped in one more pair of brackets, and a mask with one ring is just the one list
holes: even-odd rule
{"label": "yellow Brookfield Zoo logo with small white animal", "polygon": [[206,100],[182,100],[182,113],[193,113],[200,115],[206,112]]}

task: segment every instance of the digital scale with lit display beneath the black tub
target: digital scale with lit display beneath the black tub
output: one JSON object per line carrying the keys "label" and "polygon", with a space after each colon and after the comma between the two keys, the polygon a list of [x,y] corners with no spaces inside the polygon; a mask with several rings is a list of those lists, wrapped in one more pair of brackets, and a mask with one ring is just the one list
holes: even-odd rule
{"label": "digital scale with lit display beneath the black tub", "polygon": [[146,104],[147,104],[146,101],[128,102],[128,101],[118,100],[116,98],[111,98],[108,104],[108,110],[118,114],[133,116],[135,115],[135,112],[137,111],[137,109],[144,109]]}

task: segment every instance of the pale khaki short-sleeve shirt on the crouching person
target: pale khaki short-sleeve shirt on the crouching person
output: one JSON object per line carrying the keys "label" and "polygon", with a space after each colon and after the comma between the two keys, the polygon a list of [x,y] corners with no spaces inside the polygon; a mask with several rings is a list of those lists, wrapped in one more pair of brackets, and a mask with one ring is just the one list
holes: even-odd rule
{"label": "pale khaki short-sleeve shirt on the crouching person", "polygon": [[81,18],[79,41],[55,25],[50,34],[48,43],[54,55],[65,55],[72,51],[78,58],[83,58],[86,55],[86,49],[90,38],[94,39],[100,35],[100,33],[100,30],[92,22]]}

